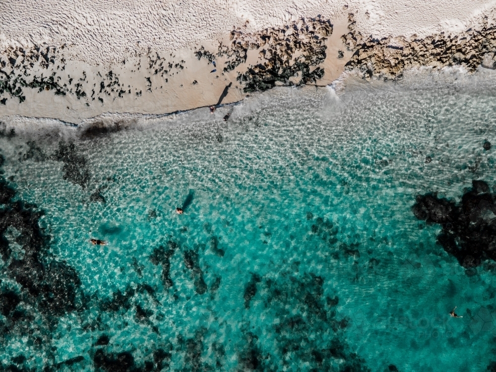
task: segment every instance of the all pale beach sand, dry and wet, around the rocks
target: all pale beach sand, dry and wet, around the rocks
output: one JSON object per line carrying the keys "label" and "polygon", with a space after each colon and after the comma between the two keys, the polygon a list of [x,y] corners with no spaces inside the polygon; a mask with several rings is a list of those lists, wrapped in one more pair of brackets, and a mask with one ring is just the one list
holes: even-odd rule
{"label": "all pale beach sand, dry and wet, around the rocks", "polygon": [[[355,27],[362,35],[422,37],[474,26],[483,15],[491,17],[495,6],[496,2],[480,0],[418,1],[418,4],[408,0],[3,0],[0,50],[5,51],[3,61],[7,67],[8,53],[14,47],[29,50],[34,45],[55,46],[57,58],[65,60],[63,71],[57,61],[49,68],[23,62],[14,71],[24,76],[27,72],[31,77],[47,77],[55,72],[61,85],[65,83],[72,90],[78,82],[87,96],[76,99],[73,94],[55,96],[53,91],[38,93],[38,89],[24,88],[26,101],[19,103],[15,97],[8,98],[5,105],[0,105],[0,118],[20,115],[78,124],[107,112],[169,113],[215,104],[229,83],[232,86],[222,103],[238,101],[245,94],[236,77],[249,65],[260,62],[260,51],[249,51],[246,63],[226,73],[222,73],[222,67],[227,58],[218,57],[217,72],[211,73],[212,64],[203,58],[198,61],[194,48],[204,46],[216,52],[219,41],[229,44],[229,33],[235,28],[256,32],[318,14],[334,25],[333,34],[326,42],[327,57],[321,65],[325,75],[317,82],[330,84],[351,57],[341,40],[348,32],[350,12],[354,13]],[[337,58],[338,51],[345,52],[343,59]],[[180,63],[184,68],[172,67],[165,76],[154,75],[158,62],[153,67],[149,64],[157,53],[164,63]],[[99,84],[111,70],[119,77],[119,89],[130,93],[123,97],[117,97],[114,92],[101,93],[101,102],[97,99]],[[90,97],[92,89],[97,93]]]}

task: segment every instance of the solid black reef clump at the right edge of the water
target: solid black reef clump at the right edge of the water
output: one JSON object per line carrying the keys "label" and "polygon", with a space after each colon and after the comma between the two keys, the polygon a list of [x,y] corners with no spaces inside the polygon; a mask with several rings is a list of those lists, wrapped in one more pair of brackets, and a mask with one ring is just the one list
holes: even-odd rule
{"label": "solid black reef clump at the right edge of the water", "polygon": [[473,181],[456,204],[436,194],[418,195],[412,207],[419,220],[442,227],[437,242],[460,265],[472,268],[484,260],[496,261],[496,204],[484,181]]}

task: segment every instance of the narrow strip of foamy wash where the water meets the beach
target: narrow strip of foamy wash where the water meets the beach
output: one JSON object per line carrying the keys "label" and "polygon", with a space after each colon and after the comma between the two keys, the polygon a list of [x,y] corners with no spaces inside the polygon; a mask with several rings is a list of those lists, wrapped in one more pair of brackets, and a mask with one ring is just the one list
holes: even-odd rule
{"label": "narrow strip of foamy wash where the water meets the beach", "polygon": [[[417,80],[417,77],[421,80]],[[470,80],[465,80],[463,77],[469,79],[473,78],[475,80],[470,82]],[[49,140],[53,140],[60,137],[60,139],[64,140],[67,140],[68,138],[86,140],[91,139],[92,137],[125,130],[153,129],[156,125],[155,121],[174,120],[180,115],[187,115],[198,110],[204,110],[204,114],[208,118],[221,121],[226,113],[229,112],[232,114],[234,108],[243,105],[246,102],[246,99],[260,100],[263,95],[267,93],[270,94],[271,91],[274,91],[274,94],[278,95],[281,94],[277,93],[280,88],[290,90],[330,89],[332,90],[331,94],[337,99],[339,99],[342,94],[351,93],[355,90],[360,91],[370,84],[373,84],[376,89],[382,89],[392,83],[394,84],[386,89],[405,91],[406,88],[406,91],[410,89],[422,91],[425,89],[433,89],[436,86],[438,86],[439,89],[453,86],[455,91],[468,88],[466,91],[468,94],[477,94],[480,89],[483,89],[486,92],[487,89],[491,90],[492,87],[494,88],[494,85],[491,84],[494,79],[496,79],[496,71],[483,67],[480,67],[473,72],[468,71],[462,66],[447,66],[442,68],[434,68],[432,66],[412,67],[404,70],[404,74],[395,80],[374,79],[373,81],[364,79],[362,72],[355,69],[344,71],[338,79],[327,85],[276,86],[267,91],[254,92],[247,95],[247,97],[243,97],[239,101],[222,103],[217,107],[215,116],[207,115],[209,114],[209,106],[176,110],[174,112],[161,114],[106,112],[95,117],[86,118],[78,124],[57,118],[12,115],[0,118],[0,137],[9,137],[9,131],[14,129],[16,135],[26,138],[32,137],[32,139],[42,139],[43,137],[46,137]],[[413,83],[413,85],[411,85],[411,83]],[[424,85],[426,83],[427,85]],[[493,90],[496,95],[496,88]],[[248,103],[248,105],[250,105],[250,103]],[[200,115],[203,114],[200,113]],[[235,118],[235,116],[233,116],[233,118]]]}

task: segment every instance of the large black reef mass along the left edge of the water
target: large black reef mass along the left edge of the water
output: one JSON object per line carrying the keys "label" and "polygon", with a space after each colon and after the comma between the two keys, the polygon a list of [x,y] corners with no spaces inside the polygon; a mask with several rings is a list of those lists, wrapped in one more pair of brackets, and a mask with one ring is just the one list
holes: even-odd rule
{"label": "large black reef mass along the left edge of the water", "polygon": [[[3,158],[1,158],[3,159]],[[0,293],[0,312],[7,324],[34,321],[33,311],[41,315],[36,327],[56,326],[58,317],[85,306],[77,272],[49,254],[50,237],[39,226],[43,211],[22,200],[13,201],[15,190],[0,178],[0,255],[8,264],[3,275],[20,285],[20,293],[4,289]],[[22,257],[13,256],[8,231],[17,230],[15,243]],[[27,306],[20,308],[23,302]]]}

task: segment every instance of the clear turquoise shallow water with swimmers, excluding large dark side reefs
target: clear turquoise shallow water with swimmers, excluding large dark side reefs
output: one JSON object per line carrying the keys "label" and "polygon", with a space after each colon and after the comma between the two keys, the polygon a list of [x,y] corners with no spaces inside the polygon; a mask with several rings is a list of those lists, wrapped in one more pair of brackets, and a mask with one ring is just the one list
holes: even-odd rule
{"label": "clear turquoise shallow water with swimmers, excluding large dark side reefs", "polygon": [[[45,212],[44,259],[65,261],[80,285],[77,309],[55,320],[36,301],[17,305],[20,321],[2,317],[0,362],[112,371],[129,352],[133,368],[158,370],[161,349],[164,371],[486,370],[494,272],[466,272],[411,207],[430,191],[459,201],[472,180],[496,191],[483,148],[496,143],[494,82],[425,72],[350,81],[339,97],[275,89],[213,116],[142,118],[147,130],[74,140],[84,188],[50,159],[58,140],[35,139],[33,157],[32,137],[4,136],[15,198]],[[7,268],[23,251],[7,235],[0,286],[21,294]],[[174,251],[150,259],[160,246]]]}

